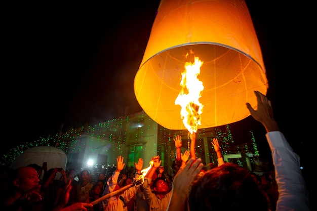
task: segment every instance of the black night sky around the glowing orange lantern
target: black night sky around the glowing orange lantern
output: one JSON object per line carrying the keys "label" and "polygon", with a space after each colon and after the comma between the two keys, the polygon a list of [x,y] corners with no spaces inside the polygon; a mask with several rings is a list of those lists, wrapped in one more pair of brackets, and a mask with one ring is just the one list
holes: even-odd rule
{"label": "black night sky around the glowing orange lantern", "polygon": [[[3,134],[8,147],[85,122],[116,118],[121,108],[141,111],[133,80],[160,1],[8,5],[3,10]],[[274,116],[307,162],[312,72],[309,5],[246,1],[260,41]],[[304,11],[299,15],[298,11]],[[310,79],[311,78],[311,79]],[[312,83],[313,84],[313,83]],[[244,136],[261,124],[232,124]]]}

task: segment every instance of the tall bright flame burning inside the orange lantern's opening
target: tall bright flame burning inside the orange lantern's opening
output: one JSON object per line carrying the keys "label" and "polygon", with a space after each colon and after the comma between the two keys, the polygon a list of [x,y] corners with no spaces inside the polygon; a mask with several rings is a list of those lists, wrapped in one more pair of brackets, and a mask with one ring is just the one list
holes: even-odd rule
{"label": "tall bright flame burning inside the orange lantern's opening", "polygon": [[199,102],[199,98],[202,96],[204,86],[203,82],[197,78],[200,75],[200,67],[203,63],[199,57],[194,57],[193,63],[185,63],[185,70],[182,72],[180,82],[182,89],[175,100],[175,105],[181,106],[181,118],[191,134],[197,132],[203,113],[204,106]]}

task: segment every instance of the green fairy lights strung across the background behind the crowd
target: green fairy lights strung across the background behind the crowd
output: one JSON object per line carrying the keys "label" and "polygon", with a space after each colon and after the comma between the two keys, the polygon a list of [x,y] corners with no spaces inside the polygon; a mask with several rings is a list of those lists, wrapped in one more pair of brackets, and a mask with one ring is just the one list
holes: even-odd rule
{"label": "green fairy lights strung across the background behind the crowd", "polygon": [[[131,121],[136,125],[142,125],[131,129]],[[132,114],[126,117],[119,117],[105,122],[99,122],[94,125],[86,123],[81,128],[71,128],[66,132],[49,134],[47,137],[40,137],[37,140],[25,142],[11,148],[8,153],[3,154],[0,158],[0,165],[10,164],[17,156],[19,156],[26,149],[36,146],[54,146],[61,149],[66,154],[68,152],[81,152],[88,144],[93,145],[96,141],[99,145],[111,142],[111,150],[118,153],[123,153],[124,146],[136,146],[138,140],[149,140],[151,133],[157,127],[157,143],[154,143],[157,149],[157,154],[163,156],[163,159],[175,160],[175,144],[174,137],[180,135],[183,141],[183,147],[188,148],[187,130],[169,130],[160,124],[149,123],[143,125],[144,122],[151,122],[152,120],[144,112],[137,115]],[[243,149],[239,145],[234,145],[233,137],[229,129],[229,125],[218,126],[216,128],[199,129],[196,133],[196,157],[202,157],[205,153],[210,157],[210,161],[216,162],[216,153],[211,145],[213,138],[217,138],[221,153],[223,155],[231,153],[251,152],[259,156],[258,147],[254,138],[253,132],[250,131],[251,141],[246,141]],[[84,136],[90,137],[90,140],[83,139]],[[206,141],[207,140],[207,143]],[[250,142],[250,143],[249,143]],[[106,153],[109,148],[103,148],[102,153]],[[207,150],[206,150],[207,149]],[[146,151],[146,148],[143,149]],[[91,147],[91,151],[96,149]],[[99,151],[100,153],[100,151]],[[238,164],[242,165],[241,159],[236,159]],[[253,159],[251,162],[254,163]]]}

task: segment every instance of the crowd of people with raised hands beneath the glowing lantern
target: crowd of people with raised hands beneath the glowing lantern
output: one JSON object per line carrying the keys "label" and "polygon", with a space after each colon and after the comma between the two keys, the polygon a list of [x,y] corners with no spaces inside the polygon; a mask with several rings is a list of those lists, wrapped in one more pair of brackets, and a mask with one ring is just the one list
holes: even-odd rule
{"label": "crowd of people with raised hands beneath the glowing lantern", "polygon": [[165,172],[160,156],[152,157],[145,173],[142,158],[134,167],[125,167],[123,156],[116,158],[110,172],[77,172],[58,167],[48,170],[46,165],[33,163],[16,170],[3,168],[2,210],[310,210],[299,156],[280,132],[270,101],[260,92],[255,95],[257,110],[249,103],[246,106],[267,132],[274,171],[259,176],[238,164],[225,162],[217,138],[211,142],[217,163],[207,170],[202,159],[195,157],[195,133],[189,133],[190,149],[183,153],[180,136],[174,138],[172,176]]}

